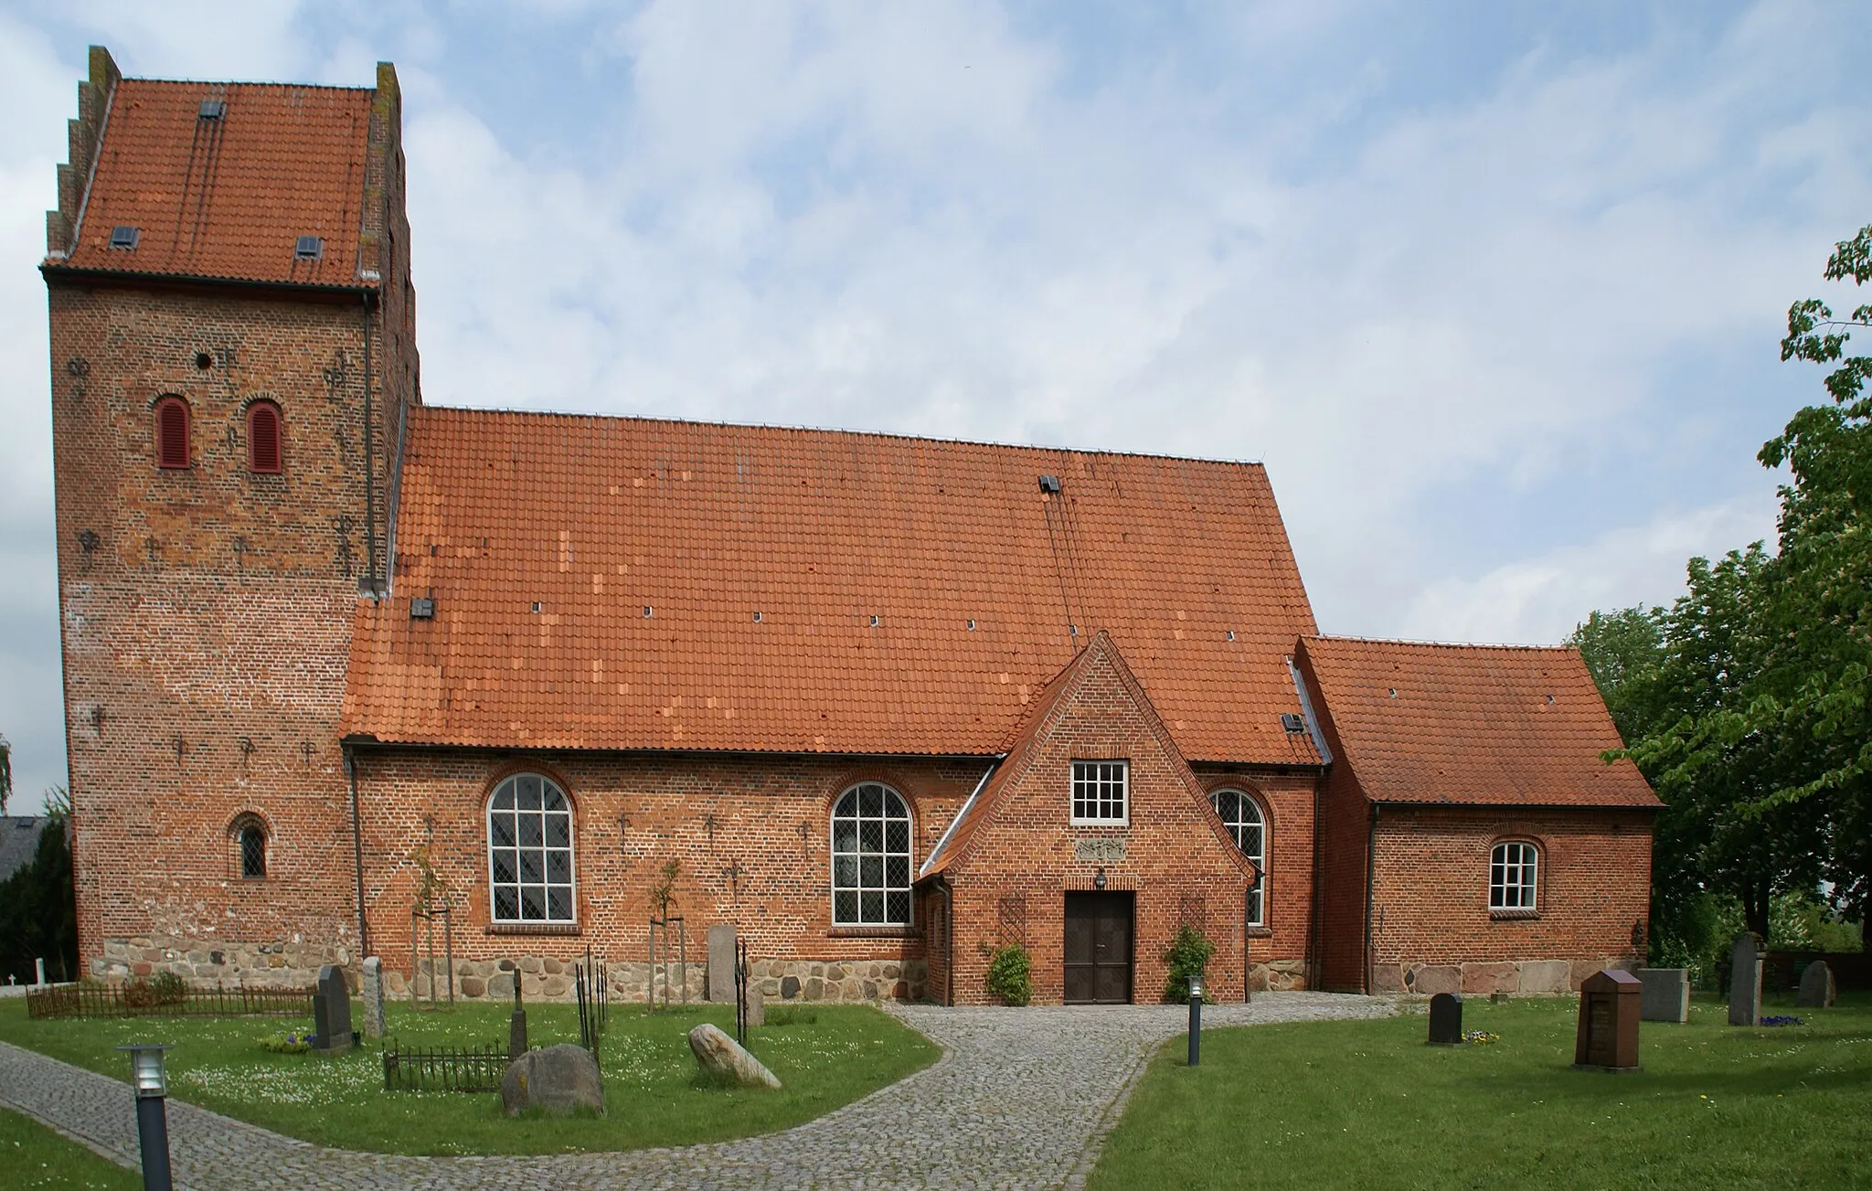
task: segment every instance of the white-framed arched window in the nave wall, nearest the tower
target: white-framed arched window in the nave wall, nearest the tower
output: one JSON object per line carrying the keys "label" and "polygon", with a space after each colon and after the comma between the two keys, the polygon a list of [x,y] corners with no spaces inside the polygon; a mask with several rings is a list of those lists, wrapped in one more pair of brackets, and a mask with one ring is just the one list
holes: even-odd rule
{"label": "white-framed arched window in the nave wall, nearest the tower", "polygon": [[487,800],[487,869],[494,921],[577,921],[573,805],[539,773],[515,773]]}

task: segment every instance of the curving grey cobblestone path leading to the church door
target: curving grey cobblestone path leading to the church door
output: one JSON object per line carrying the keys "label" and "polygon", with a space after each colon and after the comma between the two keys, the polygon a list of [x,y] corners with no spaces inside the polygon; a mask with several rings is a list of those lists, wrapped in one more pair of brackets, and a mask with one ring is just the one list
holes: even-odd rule
{"label": "curving grey cobblestone path leading to the church door", "polygon": [[[835,1112],[768,1137],[545,1157],[401,1157],[329,1150],[176,1099],[176,1185],[313,1187],[1078,1187],[1144,1060],[1183,1032],[1179,1006],[942,1009],[893,1006],[943,1058]],[[1385,1017],[1391,1002],[1262,992],[1209,1006],[1204,1026]],[[125,1167],[129,1086],[0,1043],[0,1105],[36,1116]]]}

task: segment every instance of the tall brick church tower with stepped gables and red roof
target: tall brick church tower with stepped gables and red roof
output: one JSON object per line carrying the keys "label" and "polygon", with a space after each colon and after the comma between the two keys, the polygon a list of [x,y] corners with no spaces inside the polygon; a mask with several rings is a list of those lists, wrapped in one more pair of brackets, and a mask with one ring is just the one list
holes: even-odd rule
{"label": "tall brick church tower with stepped gables and red roof", "polygon": [[92,976],[356,963],[337,738],[419,403],[397,73],[125,79],[47,212],[79,948]]}

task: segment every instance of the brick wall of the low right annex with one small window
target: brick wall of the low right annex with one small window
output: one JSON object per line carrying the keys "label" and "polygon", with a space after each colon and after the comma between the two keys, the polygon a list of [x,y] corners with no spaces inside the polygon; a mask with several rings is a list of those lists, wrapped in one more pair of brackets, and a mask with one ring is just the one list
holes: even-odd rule
{"label": "brick wall of the low right annex with one small window", "polygon": [[[1501,839],[1541,848],[1533,918],[1488,910]],[[1651,815],[1385,805],[1372,886],[1378,991],[1576,989],[1601,966],[1644,959],[1632,923],[1649,916]]]}

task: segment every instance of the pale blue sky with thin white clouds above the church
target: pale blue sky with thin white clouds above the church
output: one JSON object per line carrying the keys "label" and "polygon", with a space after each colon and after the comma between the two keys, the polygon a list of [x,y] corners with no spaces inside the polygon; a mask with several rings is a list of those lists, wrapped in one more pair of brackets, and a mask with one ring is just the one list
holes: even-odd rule
{"label": "pale blue sky with thin white clouds above the church", "polygon": [[1773,539],[1872,221],[1850,0],[0,0],[0,732],[64,783],[45,215],[84,49],[397,64],[423,395],[1267,464],[1322,631],[1556,642]]}

